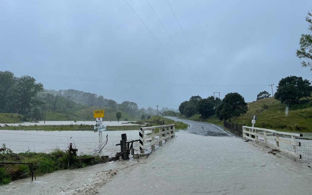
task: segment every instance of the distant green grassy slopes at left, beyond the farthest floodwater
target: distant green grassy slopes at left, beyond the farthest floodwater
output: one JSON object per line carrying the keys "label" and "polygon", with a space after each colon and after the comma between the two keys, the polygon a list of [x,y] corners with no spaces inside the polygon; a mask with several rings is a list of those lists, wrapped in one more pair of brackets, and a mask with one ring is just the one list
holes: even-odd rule
{"label": "distant green grassy slopes at left, beyond the farthest floodwater", "polygon": [[[62,114],[59,112],[46,112],[46,120],[47,121],[59,121],[59,120],[94,120],[93,118],[93,110],[104,110],[104,120],[111,121],[116,119],[116,112],[121,112],[120,110],[110,108],[110,107],[85,107],[80,110],[70,110],[66,114]],[[0,123],[17,123],[21,122],[23,115],[11,114],[11,113],[0,113]],[[125,112],[121,112],[120,120],[137,120],[137,118],[133,117]]]}

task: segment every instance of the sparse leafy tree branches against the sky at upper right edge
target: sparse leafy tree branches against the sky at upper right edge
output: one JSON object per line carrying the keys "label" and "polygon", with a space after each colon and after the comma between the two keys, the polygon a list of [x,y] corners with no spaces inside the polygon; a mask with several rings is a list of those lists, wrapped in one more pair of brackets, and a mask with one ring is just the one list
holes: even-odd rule
{"label": "sparse leafy tree branches against the sky at upper right edge", "polygon": [[[305,17],[305,21],[309,23],[308,30],[312,32],[312,19],[309,17],[312,16],[310,12],[308,12],[308,16]],[[297,50],[296,56],[299,59],[304,59],[301,61],[302,67],[311,67],[310,71],[312,71],[312,35],[311,34],[302,34],[299,41],[300,49]]]}

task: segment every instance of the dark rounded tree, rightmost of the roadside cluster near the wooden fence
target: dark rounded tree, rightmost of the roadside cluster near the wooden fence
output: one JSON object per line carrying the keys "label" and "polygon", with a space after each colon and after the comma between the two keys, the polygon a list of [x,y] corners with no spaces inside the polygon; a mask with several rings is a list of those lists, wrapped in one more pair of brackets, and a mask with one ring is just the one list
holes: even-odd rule
{"label": "dark rounded tree, rightmost of the roadside cluster near the wooden fence", "polygon": [[217,107],[216,113],[220,120],[228,120],[246,113],[247,110],[247,103],[243,96],[238,93],[228,93]]}

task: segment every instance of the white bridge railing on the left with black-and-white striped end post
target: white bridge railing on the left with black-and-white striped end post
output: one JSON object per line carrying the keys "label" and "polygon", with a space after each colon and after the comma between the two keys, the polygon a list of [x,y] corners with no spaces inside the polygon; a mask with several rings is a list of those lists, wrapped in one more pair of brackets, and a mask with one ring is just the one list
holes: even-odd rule
{"label": "white bridge railing on the left with black-and-white striped end post", "polygon": [[[159,133],[155,133],[155,129],[159,129]],[[151,130],[152,134],[144,136],[144,131],[146,130]],[[139,128],[140,153],[143,154],[144,149],[148,149],[149,147],[154,150],[155,144],[162,145],[163,140],[167,141],[173,138],[174,135],[174,124]],[[155,139],[156,136],[158,136],[159,139]],[[147,144],[147,140],[149,139],[151,139],[151,142]]]}

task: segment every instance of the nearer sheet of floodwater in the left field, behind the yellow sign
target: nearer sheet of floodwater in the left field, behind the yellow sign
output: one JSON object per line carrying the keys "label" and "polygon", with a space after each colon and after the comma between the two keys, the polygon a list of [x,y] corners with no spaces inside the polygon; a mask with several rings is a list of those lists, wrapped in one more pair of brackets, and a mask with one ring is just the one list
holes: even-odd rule
{"label": "nearer sheet of floodwater in the left field, behind the yellow sign", "polygon": [[[103,142],[107,144],[103,150],[104,155],[119,152],[121,134],[127,134],[127,139],[139,139],[139,130],[128,131],[102,131]],[[14,153],[30,150],[31,152],[49,153],[52,149],[68,149],[69,143],[73,143],[78,149],[78,154],[94,154],[99,149],[99,133],[94,131],[23,131],[23,130],[0,130],[0,145]],[[138,142],[137,142],[138,143]],[[134,149],[139,150],[138,144]]]}

